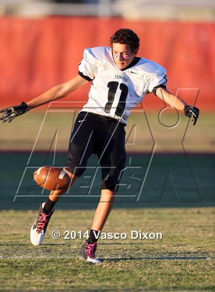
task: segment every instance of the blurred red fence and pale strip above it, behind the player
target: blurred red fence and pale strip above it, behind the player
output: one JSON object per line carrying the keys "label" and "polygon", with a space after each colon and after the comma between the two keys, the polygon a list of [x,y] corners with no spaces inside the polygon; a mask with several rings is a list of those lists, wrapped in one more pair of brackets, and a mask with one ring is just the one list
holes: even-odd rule
{"label": "blurred red fence and pale strip above it, behind the player", "polygon": [[[119,28],[140,37],[138,55],[167,68],[168,88],[190,104],[214,105],[214,1],[1,1],[1,104],[34,98],[71,79],[83,50],[109,46]],[[194,94],[194,96],[193,96]],[[86,101],[88,88],[72,100]],[[160,108],[147,96],[148,109]]]}

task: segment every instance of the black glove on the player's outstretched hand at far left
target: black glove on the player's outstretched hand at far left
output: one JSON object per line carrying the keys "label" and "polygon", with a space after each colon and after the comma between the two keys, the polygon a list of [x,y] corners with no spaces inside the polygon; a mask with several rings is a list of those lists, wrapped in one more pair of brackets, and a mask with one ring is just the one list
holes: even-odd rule
{"label": "black glove on the player's outstretched hand at far left", "polygon": [[0,120],[5,122],[12,122],[16,116],[24,114],[29,111],[29,107],[26,103],[22,102],[20,105],[11,106],[5,109],[0,110],[0,113],[6,112],[3,116],[1,116]]}

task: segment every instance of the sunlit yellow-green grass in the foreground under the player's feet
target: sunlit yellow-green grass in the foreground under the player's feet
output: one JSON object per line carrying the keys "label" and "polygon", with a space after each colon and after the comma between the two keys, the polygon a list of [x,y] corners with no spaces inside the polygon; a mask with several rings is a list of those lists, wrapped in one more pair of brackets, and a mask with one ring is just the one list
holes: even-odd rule
{"label": "sunlit yellow-green grass in the foreground under the player's feet", "polygon": [[44,244],[30,244],[35,211],[1,213],[1,291],[212,291],[212,208],[114,209],[104,231],[162,232],[162,240],[100,240],[101,265],[78,259],[83,240],[53,230],[86,230],[93,210],[57,209]]}

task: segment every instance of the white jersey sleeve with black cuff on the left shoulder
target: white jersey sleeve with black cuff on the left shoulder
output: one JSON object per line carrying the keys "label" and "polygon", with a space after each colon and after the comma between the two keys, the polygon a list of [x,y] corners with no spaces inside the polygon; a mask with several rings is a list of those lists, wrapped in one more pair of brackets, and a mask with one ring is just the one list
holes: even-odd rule
{"label": "white jersey sleeve with black cuff on the left shoulder", "polygon": [[94,80],[97,74],[98,60],[92,49],[85,49],[83,59],[78,66],[78,74],[88,81]]}

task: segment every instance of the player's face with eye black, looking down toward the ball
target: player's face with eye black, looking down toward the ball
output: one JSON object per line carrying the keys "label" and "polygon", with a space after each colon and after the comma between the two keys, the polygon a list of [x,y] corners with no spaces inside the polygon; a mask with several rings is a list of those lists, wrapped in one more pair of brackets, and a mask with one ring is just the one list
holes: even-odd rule
{"label": "player's face with eye black, looking down toward the ball", "polygon": [[132,63],[137,52],[131,52],[127,44],[113,43],[113,57],[117,68],[124,69]]}

